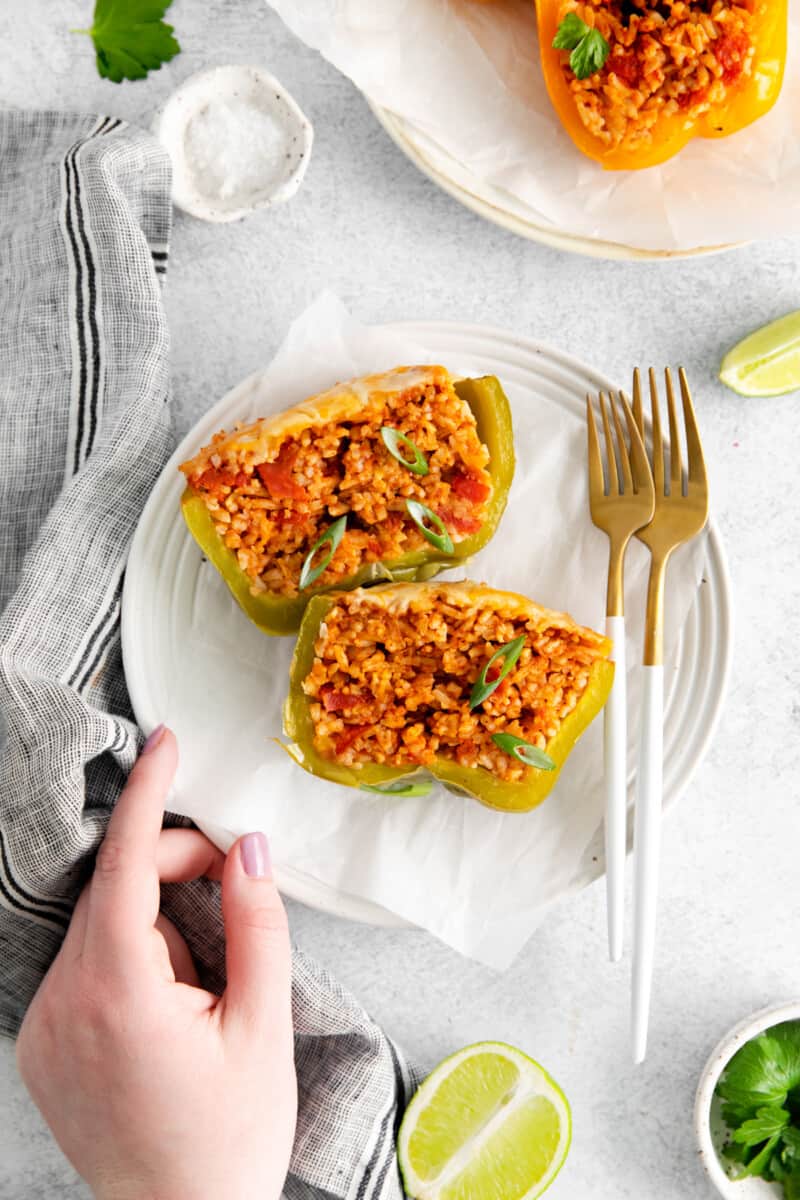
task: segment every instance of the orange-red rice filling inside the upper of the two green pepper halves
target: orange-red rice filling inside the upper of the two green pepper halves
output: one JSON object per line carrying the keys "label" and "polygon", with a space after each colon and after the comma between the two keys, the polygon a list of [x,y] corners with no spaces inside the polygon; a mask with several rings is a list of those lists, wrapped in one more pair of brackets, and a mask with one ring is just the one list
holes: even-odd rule
{"label": "orange-red rice filling inside the upper of the two green pepper halves", "polygon": [[[411,439],[427,458],[427,475],[391,456],[381,426]],[[229,440],[218,433],[207,448],[210,466],[188,479],[253,592],[297,595],[308,552],[344,514],[344,536],[314,587],[336,584],[365,563],[431,548],[407,499],[437,512],[458,542],[481,528],[492,496],[488,450],[471,409],[446,378],[378,391],[351,419],[303,430],[276,446],[269,461],[251,461]]]}

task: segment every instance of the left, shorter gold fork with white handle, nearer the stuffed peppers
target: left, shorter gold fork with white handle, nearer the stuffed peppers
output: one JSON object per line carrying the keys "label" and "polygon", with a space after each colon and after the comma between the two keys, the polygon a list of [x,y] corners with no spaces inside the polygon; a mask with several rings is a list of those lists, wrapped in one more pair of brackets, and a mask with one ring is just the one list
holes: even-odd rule
{"label": "left, shorter gold fork with white handle, nearer the stuffed peppers", "polygon": [[[625,917],[625,848],[627,840],[627,709],[625,673],[625,608],[622,565],[632,535],[646,526],[655,508],[652,475],[642,434],[622,392],[619,406],[614,394],[601,391],[600,413],[606,440],[606,464],[595,424],[591,396],[587,396],[589,434],[589,508],[591,520],[608,535],[608,590],[606,593],[606,632],[614,643],[614,685],[606,704],[604,781],[606,781],[606,904],[608,917],[608,953],[612,962],[622,955]],[[619,408],[625,414],[626,442]],[[613,421],[613,424],[612,424]],[[630,442],[630,446],[628,446]],[[618,468],[619,460],[619,468]],[[620,478],[621,476],[621,478]]]}

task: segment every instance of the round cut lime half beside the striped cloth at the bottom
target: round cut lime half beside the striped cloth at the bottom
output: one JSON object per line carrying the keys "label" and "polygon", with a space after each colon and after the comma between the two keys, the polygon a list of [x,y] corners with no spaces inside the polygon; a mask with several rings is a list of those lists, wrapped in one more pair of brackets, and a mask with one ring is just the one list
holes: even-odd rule
{"label": "round cut lime half beside the striped cloth at the bottom", "polygon": [[539,1063],[480,1042],[425,1080],[397,1154],[413,1200],[534,1200],[561,1169],[571,1136],[570,1105]]}

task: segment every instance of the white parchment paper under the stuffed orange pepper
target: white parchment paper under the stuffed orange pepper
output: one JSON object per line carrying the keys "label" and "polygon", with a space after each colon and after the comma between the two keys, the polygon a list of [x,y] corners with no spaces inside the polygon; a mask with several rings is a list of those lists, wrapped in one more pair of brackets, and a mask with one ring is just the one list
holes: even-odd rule
{"label": "white parchment paper under the stuffed orange pepper", "polygon": [[533,0],[269,0],[309,46],[531,218],[649,250],[800,230],[800,0],[782,95],[754,125],[662,167],[606,172],[561,128]]}

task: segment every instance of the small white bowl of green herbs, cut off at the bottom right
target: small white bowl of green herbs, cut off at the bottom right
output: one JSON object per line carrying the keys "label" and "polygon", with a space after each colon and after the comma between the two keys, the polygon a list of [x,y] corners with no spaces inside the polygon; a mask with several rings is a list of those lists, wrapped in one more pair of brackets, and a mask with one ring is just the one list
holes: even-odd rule
{"label": "small white bowl of green herbs, cut off at the bottom right", "polygon": [[727,1200],[800,1200],[800,1001],[726,1034],[700,1076],[694,1127]]}

